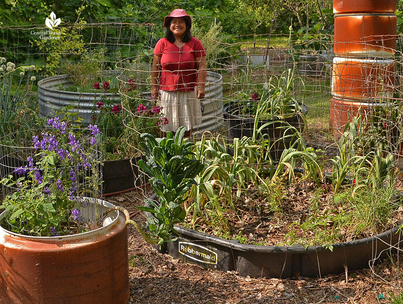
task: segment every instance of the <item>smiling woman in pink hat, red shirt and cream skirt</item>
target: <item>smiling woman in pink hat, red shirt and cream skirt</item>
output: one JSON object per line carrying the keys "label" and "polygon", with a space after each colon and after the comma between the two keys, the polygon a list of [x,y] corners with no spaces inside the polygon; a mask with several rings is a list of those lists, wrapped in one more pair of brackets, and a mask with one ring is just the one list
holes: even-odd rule
{"label": "smiling woman in pink hat, red shirt and cream skirt", "polygon": [[162,112],[168,124],[161,131],[176,132],[186,128],[190,137],[193,126],[201,123],[200,100],[205,98],[206,52],[200,40],[192,37],[192,20],[184,10],[173,10],[164,19],[165,38],[154,49],[152,96],[160,94]]}

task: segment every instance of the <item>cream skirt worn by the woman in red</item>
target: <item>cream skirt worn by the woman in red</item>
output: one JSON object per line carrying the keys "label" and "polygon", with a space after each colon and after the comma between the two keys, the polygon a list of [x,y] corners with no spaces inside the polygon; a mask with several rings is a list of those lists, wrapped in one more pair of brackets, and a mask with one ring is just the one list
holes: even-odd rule
{"label": "cream skirt worn by the woman in red", "polygon": [[201,124],[200,100],[196,91],[160,90],[162,113],[168,118],[168,124],[162,125],[163,132],[176,132],[184,126],[186,131]]}

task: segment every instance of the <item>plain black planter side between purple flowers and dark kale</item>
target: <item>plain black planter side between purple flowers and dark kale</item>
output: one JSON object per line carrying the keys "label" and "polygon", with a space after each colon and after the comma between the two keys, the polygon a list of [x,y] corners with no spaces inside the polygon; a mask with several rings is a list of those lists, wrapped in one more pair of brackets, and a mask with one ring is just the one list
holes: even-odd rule
{"label": "plain black planter side between purple flowers and dark kale", "polygon": [[119,159],[104,161],[102,168],[103,193],[115,193],[141,186],[148,181],[137,165],[144,156],[133,157],[131,159]]}

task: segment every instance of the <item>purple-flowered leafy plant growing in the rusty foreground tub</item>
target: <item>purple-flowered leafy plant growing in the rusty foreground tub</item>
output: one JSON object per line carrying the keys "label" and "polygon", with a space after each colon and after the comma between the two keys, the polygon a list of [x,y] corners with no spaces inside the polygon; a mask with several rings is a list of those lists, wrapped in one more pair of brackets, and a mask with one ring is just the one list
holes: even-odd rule
{"label": "purple-flowered leafy plant growing in the rusty foreground tub", "polygon": [[101,134],[96,125],[69,129],[58,118],[32,136],[31,156],[0,183],[14,192],[5,208],[9,230],[36,236],[58,236],[86,231],[80,208],[83,198],[99,189]]}

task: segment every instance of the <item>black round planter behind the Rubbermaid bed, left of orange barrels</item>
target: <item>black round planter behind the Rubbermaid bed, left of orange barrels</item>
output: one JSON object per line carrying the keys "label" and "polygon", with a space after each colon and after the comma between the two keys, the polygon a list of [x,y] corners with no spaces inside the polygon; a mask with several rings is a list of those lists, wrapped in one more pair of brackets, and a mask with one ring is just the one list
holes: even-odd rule
{"label": "black round planter behind the Rubbermaid bed, left of orange barrels", "polygon": [[[223,108],[224,119],[228,123],[228,138],[230,140],[234,138],[252,137],[253,126],[255,119],[253,117],[245,117],[236,115],[237,108],[233,104],[228,104]],[[296,140],[293,136],[294,131],[292,128],[297,129],[299,132],[304,128],[303,115],[308,113],[308,107],[301,106],[301,111],[296,112],[290,117],[283,119],[260,119],[258,121],[258,128],[267,124],[261,130],[263,136],[267,136],[271,142],[270,153],[273,159],[279,159],[284,149],[289,148],[291,144]]]}

